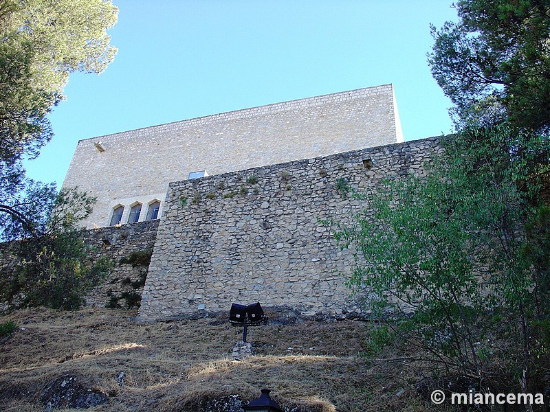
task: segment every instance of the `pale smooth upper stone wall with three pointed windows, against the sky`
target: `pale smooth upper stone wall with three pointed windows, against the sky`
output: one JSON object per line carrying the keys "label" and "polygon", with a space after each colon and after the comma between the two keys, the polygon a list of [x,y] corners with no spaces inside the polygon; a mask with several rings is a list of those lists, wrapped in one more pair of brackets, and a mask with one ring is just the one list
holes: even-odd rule
{"label": "pale smooth upper stone wall with three pointed windows, against the sky", "polygon": [[[78,142],[63,183],[98,198],[88,228],[113,209],[161,202],[171,181],[403,141],[391,84],[221,113]],[[159,215],[160,216],[160,215]]]}

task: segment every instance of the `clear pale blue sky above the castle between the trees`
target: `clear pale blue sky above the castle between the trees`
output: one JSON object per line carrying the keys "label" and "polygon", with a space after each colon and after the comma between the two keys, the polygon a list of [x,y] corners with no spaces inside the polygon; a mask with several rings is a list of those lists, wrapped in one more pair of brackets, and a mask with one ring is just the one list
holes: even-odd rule
{"label": "clear pale blue sky above the castle between the trees", "polygon": [[25,163],[32,179],[61,187],[80,139],[387,83],[405,140],[452,128],[426,62],[452,0],[113,3],[118,55],[100,76],[71,76],[54,138]]}

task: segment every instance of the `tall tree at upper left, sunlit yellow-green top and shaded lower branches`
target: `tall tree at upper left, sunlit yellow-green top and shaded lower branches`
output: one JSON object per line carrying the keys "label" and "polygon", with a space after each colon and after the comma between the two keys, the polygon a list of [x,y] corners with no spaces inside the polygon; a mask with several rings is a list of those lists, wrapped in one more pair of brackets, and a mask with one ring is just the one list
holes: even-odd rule
{"label": "tall tree at upper left, sunlit yellow-green top and shaded lower branches", "polygon": [[[25,191],[55,191],[26,181],[21,159],[38,156],[52,138],[47,114],[63,98],[69,74],[100,73],[113,60],[107,29],[117,12],[110,0],[1,2],[0,215],[2,222],[19,222],[19,236],[38,234],[39,223],[25,213]],[[0,236],[9,239],[5,228]]]}

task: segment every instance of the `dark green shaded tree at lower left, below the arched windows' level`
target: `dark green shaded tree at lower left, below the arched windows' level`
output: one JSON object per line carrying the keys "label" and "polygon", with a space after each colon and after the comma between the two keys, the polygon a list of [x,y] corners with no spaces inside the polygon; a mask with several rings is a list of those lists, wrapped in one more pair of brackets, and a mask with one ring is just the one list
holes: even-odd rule
{"label": "dark green shaded tree at lower left, below the arched windows' level", "polygon": [[[83,241],[78,222],[91,211],[94,199],[78,190],[38,190],[30,194],[28,211],[43,212],[30,236],[4,244],[4,259],[12,264],[0,276],[0,294],[12,307],[48,306],[79,308],[87,291],[98,284],[111,268],[107,260],[94,261]],[[12,220],[8,233],[19,231]]]}

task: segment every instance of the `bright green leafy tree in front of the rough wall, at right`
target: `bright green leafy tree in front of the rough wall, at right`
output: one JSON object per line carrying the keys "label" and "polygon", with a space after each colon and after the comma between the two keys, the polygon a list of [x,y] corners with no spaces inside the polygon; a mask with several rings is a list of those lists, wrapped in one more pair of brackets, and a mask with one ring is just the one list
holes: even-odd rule
{"label": "bright green leafy tree in front of the rough wall, at right", "polygon": [[527,390],[547,370],[549,209],[533,198],[548,146],[503,126],[463,130],[428,176],[388,181],[364,198],[358,225],[337,233],[355,250],[351,285],[432,372],[520,379]]}

